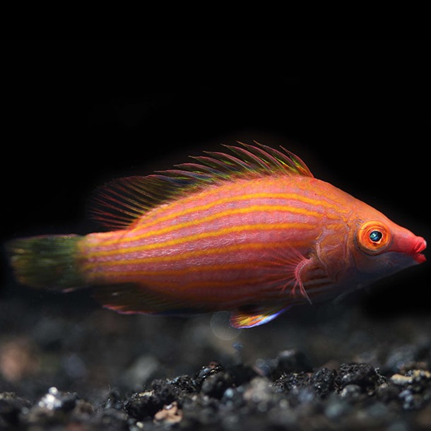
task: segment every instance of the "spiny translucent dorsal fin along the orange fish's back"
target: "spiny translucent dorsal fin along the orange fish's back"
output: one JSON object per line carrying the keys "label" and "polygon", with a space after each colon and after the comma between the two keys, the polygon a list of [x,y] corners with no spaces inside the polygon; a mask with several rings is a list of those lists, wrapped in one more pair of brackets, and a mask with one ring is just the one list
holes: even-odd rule
{"label": "spiny translucent dorsal fin along the orange fish's back", "polygon": [[155,175],[115,179],[95,192],[93,217],[105,226],[122,229],[151,208],[208,184],[271,174],[313,176],[300,158],[282,146],[283,151],[254,143],[225,146],[233,154],[205,151],[206,155],[192,156],[193,163]]}

